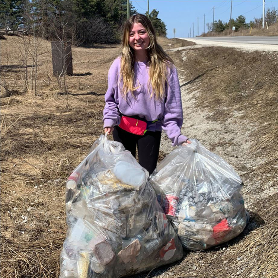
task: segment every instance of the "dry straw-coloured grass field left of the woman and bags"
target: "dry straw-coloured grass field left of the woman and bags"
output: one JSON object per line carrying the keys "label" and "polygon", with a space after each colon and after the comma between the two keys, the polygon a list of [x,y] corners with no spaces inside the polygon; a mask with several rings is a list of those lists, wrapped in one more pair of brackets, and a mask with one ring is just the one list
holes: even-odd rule
{"label": "dry straw-coloured grass field left of the woman and bags", "polygon": [[120,46],[73,48],[65,95],[43,41],[34,96],[24,88],[20,43],[19,37],[1,41],[1,84],[5,79],[8,89],[1,87],[1,276],[57,277],[66,234],[64,183],[102,132],[107,72]]}

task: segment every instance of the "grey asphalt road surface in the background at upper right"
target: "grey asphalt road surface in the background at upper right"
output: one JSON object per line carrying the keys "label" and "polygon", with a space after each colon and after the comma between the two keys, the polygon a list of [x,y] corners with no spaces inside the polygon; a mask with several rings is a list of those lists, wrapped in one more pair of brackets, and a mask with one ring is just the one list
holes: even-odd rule
{"label": "grey asphalt road surface in the background at upper right", "polygon": [[278,36],[276,37],[195,37],[195,38],[184,38],[185,40],[204,40],[204,41],[217,41],[227,43],[256,43],[256,44],[274,44],[278,45]]}

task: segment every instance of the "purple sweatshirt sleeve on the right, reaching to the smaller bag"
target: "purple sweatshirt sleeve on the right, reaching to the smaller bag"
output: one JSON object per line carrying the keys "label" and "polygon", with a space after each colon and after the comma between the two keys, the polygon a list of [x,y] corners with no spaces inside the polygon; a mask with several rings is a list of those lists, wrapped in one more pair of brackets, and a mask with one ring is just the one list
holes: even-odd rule
{"label": "purple sweatshirt sleeve on the right, reaching to the smaller bag", "polygon": [[168,85],[166,86],[166,101],[162,119],[162,128],[172,141],[173,146],[180,145],[188,139],[181,134],[182,123],[181,89],[177,69],[173,67],[170,69]]}

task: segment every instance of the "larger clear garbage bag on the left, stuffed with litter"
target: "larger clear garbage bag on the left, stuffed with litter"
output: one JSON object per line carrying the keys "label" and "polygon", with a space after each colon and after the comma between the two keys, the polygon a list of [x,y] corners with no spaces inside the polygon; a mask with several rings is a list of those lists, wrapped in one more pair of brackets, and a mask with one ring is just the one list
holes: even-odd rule
{"label": "larger clear garbage bag on the left, stuffed with litter", "polygon": [[117,278],[181,259],[148,176],[121,143],[100,136],[66,182],[60,278]]}

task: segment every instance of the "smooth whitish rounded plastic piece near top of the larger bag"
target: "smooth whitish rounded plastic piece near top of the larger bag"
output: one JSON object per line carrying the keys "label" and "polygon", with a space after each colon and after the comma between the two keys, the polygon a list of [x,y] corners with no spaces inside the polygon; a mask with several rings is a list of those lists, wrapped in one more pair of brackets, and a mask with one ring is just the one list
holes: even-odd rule
{"label": "smooth whitish rounded plastic piece near top of the larger bag", "polygon": [[136,188],[141,187],[147,179],[146,173],[142,168],[136,167],[136,165],[127,161],[118,161],[112,172],[118,180]]}

